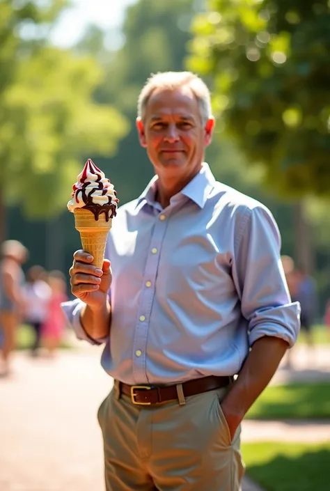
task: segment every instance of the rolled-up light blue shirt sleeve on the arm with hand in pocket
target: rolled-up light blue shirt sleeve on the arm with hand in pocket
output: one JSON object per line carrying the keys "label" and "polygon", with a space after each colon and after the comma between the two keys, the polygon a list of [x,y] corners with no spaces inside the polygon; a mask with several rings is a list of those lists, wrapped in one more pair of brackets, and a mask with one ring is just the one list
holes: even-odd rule
{"label": "rolled-up light blue shirt sleeve on the arm with hand in pocket", "polygon": [[242,315],[249,322],[249,344],[275,336],[292,346],[300,329],[300,304],[290,299],[276,221],[266,207],[257,205],[246,208],[240,225],[233,277]]}

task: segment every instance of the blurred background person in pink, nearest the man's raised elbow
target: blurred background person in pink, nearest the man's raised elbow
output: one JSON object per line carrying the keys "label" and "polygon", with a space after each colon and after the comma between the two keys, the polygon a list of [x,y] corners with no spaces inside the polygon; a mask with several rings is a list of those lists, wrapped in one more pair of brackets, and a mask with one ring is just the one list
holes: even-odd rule
{"label": "blurred background person in pink, nearest the man's raised elbow", "polygon": [[61,302],[66,302],[65,276],[61,271],[52,271],[48,274],[48,284],[51,295],[47,305],[47,318],[42,326],[42,341],[47,348],[49,356],[54,357],[65,333],[65,315],[61,309]]}

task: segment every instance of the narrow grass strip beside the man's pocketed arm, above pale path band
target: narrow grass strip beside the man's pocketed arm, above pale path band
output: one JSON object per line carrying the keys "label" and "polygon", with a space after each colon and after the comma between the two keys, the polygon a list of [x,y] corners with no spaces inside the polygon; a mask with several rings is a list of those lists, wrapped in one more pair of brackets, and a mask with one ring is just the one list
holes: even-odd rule
{"label": "narrow grass strip beside the man's pocketed arm, above pale path band", "polygon": [[246,417],[330,419],[330,382],[269,386],[253,404]]}

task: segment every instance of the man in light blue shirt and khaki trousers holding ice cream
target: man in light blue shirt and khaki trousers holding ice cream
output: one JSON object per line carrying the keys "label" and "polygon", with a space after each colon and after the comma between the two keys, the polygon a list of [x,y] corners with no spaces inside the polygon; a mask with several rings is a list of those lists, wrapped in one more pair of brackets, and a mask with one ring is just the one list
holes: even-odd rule
{"label": "man in light blue shirt and khaki trousers holding ice cream", "polygon": [[269,210],[204,163],[203,81],[159,73],[138,106],[155,177],[113,220],[112,273],[74,254],[64,306],[79,338],[106,343],[115,380],[98,412],[106,488],[238,491],[240,423],[297,338],[299,304]]}

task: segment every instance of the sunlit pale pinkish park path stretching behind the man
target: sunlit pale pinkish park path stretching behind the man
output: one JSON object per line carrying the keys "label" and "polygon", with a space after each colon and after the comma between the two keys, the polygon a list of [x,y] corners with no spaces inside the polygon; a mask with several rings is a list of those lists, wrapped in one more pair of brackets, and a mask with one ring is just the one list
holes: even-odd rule
{"label": "sunlit pale pinkish park path stretching behind the man", "polygon": [[[112,380],[100,366],[101,351],[85,345],[64,350],[54,360],[16,354],[14,375],[0,380],[0,491],[104,490],[96,412]],[[330,378],[329,354],[317,357],[313,375],[318,370],[325,377],[329,371]],[[285,376],[291,375],[278,371],[274,383]],[[279,432],[290,439],[297,431],[276,424],[246,421],[242,439],[267,439]],[[330,424],[316,426],[320,432],[309,424],[298,432],[305,441],[330,435]],[[243,491],[257,489],[244,481]]]}

